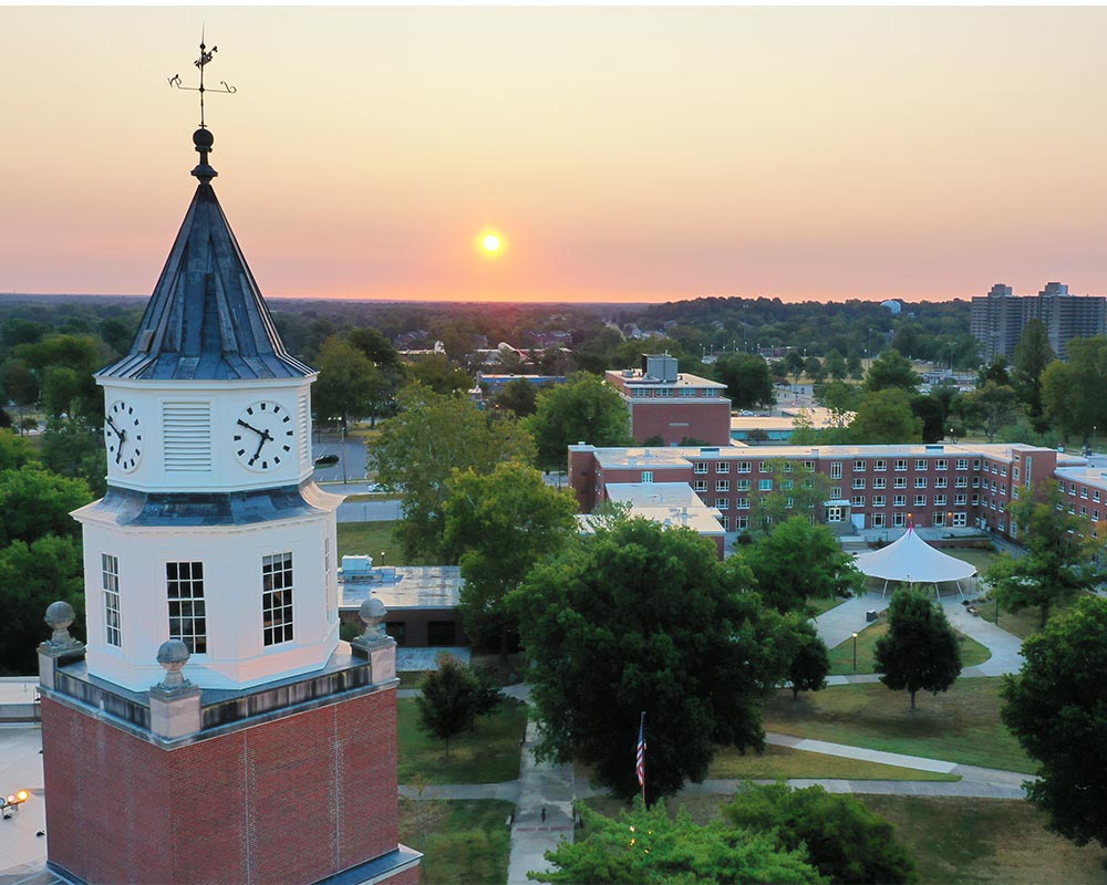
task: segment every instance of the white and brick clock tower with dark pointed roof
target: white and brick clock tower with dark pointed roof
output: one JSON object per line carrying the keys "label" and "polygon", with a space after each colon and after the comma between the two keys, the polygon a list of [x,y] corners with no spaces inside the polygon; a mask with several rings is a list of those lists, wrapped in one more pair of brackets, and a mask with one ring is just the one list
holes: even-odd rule
{"label": "white and brick clock tower with dark pointed roof", "polygon": [[73,514],[87,642],[55,603],[40,646],[48,863],[86,883],[415,883],[380,604],[339,639],[317,373],[216,199],[210,131],[193,140],[184,223],[130,352],[96,374],[107,493]]}

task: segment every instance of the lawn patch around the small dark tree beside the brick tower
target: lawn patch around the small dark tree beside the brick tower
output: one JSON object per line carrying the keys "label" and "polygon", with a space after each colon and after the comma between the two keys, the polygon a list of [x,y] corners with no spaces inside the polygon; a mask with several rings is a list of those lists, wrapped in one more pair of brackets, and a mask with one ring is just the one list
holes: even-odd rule
{"label": "lawn patch around the small dark tree beside the brick tower", "polygon": [[414,698],[396,701],[400,712],[400,782],[423,778],[427,783],[499,783],[519,777],[519,739],[527,727],[527,708],[508,698],[476,729],[445,743],[423,733]]}

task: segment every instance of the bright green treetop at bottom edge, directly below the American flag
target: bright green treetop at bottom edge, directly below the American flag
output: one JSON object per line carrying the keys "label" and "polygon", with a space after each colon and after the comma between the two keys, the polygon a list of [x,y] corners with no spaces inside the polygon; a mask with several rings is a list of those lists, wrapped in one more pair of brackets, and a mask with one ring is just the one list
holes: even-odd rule
{"label": "bright green treetop at bottom edge, directly below the American flag", "polygon": [[528,878],[566,885],[823,882],[801,846],[780,848],[772,834],[754,826],[734,829],[722,821],[700,825],[683,808],[671,820],[663,802],[646,809],[640,799],[618,821],[579,808],[588,837],[558,843],[546,852],[556,868],[528,873]]}

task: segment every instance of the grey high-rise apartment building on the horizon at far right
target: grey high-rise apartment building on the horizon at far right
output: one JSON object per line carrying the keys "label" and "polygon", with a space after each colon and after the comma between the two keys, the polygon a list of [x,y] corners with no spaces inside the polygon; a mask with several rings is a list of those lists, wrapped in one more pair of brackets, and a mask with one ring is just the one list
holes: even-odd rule
{"label": "grey high-rise apartment building on the horizon at far right", "polygon": [[1057,356],[1065,357],[1072,339],[1107,332],[1107,298],[1070,295],[1063,283],[1046,283],[1037,295],[1014,295],[1011,287],[996,283],[986,295],[972,300],[970,332],[980,342],[980,355],[991,363],[1003,354],[1011,361],[1023,329],[1041,320]]}

